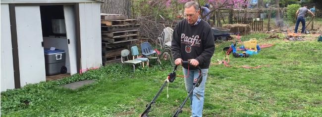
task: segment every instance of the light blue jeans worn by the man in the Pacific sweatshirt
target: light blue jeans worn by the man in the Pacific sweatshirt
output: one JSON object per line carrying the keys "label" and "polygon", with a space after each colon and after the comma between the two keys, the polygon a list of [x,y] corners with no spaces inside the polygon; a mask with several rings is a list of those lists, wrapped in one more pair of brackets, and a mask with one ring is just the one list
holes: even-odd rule
{"label": "light blue jeans worn by the man in the Pacific sweatshirt", "polygon": [[[185,69],[183,67],[182,67],[182,69],[183,69],[183,75],[187,76],[188,69]],[[203,81],[201,82],[199,87],[196,87],[193,90],[193,94],[191,94],[189,96],[192,117],[202,117],[202,110],[203,110],[203,106],[204,106],[205,84],[206,84],[206,79],[207,79],[207,75],[208,75],[208,70],[209,69],[201,69]],[[186,89],[187,89],[188,93],[193,88],[194,78],[198,78],[198,76],[199,76],[199,70],[189,69],[188,77],[184,77],[184,83],[186,85]]]}

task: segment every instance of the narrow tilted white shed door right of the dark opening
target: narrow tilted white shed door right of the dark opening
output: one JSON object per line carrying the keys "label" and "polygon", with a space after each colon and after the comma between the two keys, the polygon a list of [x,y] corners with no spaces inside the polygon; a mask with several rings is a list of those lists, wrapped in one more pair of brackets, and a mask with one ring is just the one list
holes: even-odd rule
{"label": "narrow tilted white shed door right of the dark opening", "polygon": [[69,61],[70,61],[70,74],[72,75],[77,73],[76,30],[75,30],[76,28],[75,28],[74,5],[64,5],[64,17],[65,17],[65,25],[66,25],[66,36],[67,36],[67,39],[69,40],[68,55],[69,55]]}

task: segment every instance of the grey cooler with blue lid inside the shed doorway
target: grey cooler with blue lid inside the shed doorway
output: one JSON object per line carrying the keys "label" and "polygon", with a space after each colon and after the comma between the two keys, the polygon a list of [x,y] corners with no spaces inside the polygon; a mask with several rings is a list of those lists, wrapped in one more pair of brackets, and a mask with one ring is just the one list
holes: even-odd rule
{"label": "grey cooler with blue lid inside the shed doorway", "polygon": [[64,50],[44,49],[46,75],[56,75],[66,73],[65,67],[66,53]]}

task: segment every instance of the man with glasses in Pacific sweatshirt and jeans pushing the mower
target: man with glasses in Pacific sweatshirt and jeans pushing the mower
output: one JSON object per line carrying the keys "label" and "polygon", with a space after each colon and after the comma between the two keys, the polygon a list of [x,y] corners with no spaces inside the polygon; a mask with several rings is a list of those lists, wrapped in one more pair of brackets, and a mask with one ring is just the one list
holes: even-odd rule
{"label": "man with glasses in Pacific sweatshirt and jeans pushing the mower", "polygon": [[[199,76],[197,65],[202,71],[203,81],[189,96],[192,117],[202,117],[204,105],[205,83],[208,75],[210,59],[215,51],[215,42],[211,27],[199,17],[199,5],[196,1],[185,4],[185,17],[173,30],[171,52],[176,65],[182,65],[185,86],[189,92],[193,88],[193,80]],[[190,61],[182,64],[182,60]],[[189,71],[189,72],[188,72]],[[189,74],[188,74],[189,73]]]}

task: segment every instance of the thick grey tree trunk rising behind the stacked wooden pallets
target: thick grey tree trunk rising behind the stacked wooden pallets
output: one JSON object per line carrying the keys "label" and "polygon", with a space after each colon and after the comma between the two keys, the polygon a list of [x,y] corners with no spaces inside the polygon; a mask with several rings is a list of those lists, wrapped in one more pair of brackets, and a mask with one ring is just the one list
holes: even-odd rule
{"label": "thick grey tree trunk rising behind the stacked wooden pallets", "polygon": [[124,14],[131,19],[131,0],[103,0],[101,13]]}

